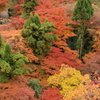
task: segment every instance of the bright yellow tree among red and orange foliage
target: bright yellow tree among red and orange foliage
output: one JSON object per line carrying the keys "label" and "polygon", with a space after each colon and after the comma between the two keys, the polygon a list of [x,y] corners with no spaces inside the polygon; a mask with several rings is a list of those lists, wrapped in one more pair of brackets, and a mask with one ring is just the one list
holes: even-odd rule
{"label": "bright yellow tree among red and orange foliage", "polygon": [[68,65],[61,67],[60,73],[50,76],[48,83],[61,88],[61,94],[66,97],[75,91],[80,84],[88,84],[91,80],[89,75],[82,76],[80,71]]}

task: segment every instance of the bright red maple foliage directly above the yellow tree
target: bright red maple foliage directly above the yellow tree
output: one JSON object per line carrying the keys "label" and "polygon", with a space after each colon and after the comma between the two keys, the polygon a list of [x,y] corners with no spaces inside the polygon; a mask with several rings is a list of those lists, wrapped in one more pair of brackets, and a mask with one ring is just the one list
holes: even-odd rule
{"label": "bright red maple foliage directly above the yellow tree", "polygon": [[43,69],[48,74],[55,74],[59,72],[61,64],[67,64],[70,67],[78,69],[81,66],[81,61],[77,59],[72,53],[53,47],[52,52],[48,53],[43,59]]}

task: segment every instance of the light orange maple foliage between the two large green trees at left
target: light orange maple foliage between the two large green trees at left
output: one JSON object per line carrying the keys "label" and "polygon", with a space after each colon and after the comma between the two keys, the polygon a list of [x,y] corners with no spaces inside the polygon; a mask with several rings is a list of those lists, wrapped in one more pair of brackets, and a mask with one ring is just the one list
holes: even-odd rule
{"label": "light orange maple foliage between the two large green trees at left", "polygon": [[21,30],[1,31],[4,40],[11,45],[13,52],[24,54],[30,62],[38,61],[38,58],[33,54],[33,50],[26,46],[26,41],[21,36]]}

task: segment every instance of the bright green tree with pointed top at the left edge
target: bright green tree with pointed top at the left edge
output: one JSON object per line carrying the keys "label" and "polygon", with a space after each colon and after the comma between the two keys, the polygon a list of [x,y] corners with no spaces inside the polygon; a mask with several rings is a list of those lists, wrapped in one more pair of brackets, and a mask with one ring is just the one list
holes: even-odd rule
{"label": "bright green tree with pointed top at the left edge", "polygon": [[12,53],[10,45],[3,43],[0,47],[0,82],[7,82],[15,75],[28,74],[31,69],[23,68],[27,62],[24,55]]}

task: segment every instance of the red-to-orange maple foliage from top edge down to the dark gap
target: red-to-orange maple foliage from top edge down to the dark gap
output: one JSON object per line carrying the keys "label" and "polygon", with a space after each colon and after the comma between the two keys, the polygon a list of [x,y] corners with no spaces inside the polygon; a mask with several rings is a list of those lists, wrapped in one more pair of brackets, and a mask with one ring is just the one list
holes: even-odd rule
{"label": "red-to-orange maple foliage from top edge down to the dark gap", "polygon": [[66,23],[70,21],[70,18],[65,14],[66,8],[60,6],[56,7],[52,0],[48,0],[46,2],[39,0],[39,2],[41,5],[35,7],[35,9],[40,16],[41,21],[48,18],[49,21],[53,22],[56,26],[54,33],[57,34],[58,41],[55,43],[55,45],[57,45],[59,48],[68,50],[69,48],[67,47],[66,39],[68,37],[75,36],[75,34],[67,29]]}

